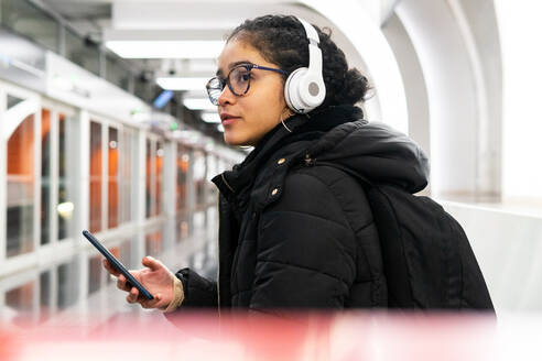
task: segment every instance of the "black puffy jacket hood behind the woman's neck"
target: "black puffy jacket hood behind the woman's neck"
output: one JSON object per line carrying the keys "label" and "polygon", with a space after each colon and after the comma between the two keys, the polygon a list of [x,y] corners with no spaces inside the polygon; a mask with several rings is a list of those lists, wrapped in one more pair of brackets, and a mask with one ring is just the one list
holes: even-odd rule
{"label": "black puffy jacket hood behind the woman's neck", "polygon": [[316,163],[338,164],[371,182],[393,184],[412,194],[429,182],[430,164],[422,149],[383,123],[343,123],[325,133],[307,153]]}

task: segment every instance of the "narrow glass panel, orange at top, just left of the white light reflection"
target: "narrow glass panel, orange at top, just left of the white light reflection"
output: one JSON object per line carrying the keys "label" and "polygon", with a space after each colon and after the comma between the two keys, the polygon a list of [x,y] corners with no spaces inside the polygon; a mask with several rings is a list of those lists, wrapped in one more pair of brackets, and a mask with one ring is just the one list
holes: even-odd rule
{"label": "narrow glass panel, orange at top, just left of the white light reflection", "polygon": [[51,111],[42,109],[42,203],[40,208],[40,243],[50,240],[51,220]]}

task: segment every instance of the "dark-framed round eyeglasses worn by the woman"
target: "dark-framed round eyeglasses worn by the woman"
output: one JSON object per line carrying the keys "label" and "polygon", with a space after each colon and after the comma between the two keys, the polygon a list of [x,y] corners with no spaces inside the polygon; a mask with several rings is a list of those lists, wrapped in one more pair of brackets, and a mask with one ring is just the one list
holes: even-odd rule
{"label": "dark-framed round eyeglasses worn by the woman", "polygon": [[246,95],[247,91],[250,89],[250,79],[251,79],[250,70],[252,69],[270,70],[270,72],[288,75],[288,73],[282,69],[274,69],[256,64],[237,65],[229,72],[228,77],[226,79],[216,76],[210,78],[209,81],[207,81],[206,87],[207,87],[207,94],[209,95],[210,102],[214,103],[215,106],[218,106],[218,98],[223,94],[226,84],[228,85],[229,90],[231,90],[231,92],[235,96],[240,97],[242,95]]}

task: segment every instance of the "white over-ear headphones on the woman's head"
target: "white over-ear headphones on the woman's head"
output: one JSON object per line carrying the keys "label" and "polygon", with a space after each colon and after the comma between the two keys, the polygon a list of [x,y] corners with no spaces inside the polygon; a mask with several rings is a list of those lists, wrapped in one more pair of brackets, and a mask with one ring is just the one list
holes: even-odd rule
{"label": "white over-ear headphones on the woman's head", "polygon": [[326,86],[322,74],[322,51],[316,29],[303,19],[297,20],[305,28],[308,39],[308,68],[292,72],[284,85],[284,98],[290,109],[296,113],[307,113],[318,107],[326,97]]}

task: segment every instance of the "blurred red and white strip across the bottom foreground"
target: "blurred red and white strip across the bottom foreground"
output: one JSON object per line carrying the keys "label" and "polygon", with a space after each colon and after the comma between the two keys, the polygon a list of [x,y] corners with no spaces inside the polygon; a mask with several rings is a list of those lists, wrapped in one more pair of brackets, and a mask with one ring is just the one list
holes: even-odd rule
{"label": "blurred red and white strip across the bottom foreground", "polygon": [[[0,360],[528,360],[541,318],[483,315],[183,314],[116,316],[85,326],[0,328]],[[529,321],[530,320],[530,321]]]}

